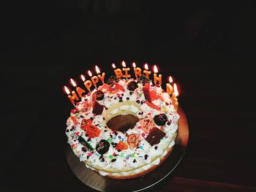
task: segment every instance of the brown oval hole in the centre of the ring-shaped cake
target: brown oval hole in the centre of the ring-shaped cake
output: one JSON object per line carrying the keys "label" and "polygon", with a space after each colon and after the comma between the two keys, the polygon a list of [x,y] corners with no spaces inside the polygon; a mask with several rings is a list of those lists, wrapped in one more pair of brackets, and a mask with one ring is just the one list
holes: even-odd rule
{"label": "brown oval hole in the centre of the ring-shaped cake", "polygon": [[118,115],[108,120],[107,126],[113,131],[126,132],[129,128],[133,128],[139,121],[134,115]]}

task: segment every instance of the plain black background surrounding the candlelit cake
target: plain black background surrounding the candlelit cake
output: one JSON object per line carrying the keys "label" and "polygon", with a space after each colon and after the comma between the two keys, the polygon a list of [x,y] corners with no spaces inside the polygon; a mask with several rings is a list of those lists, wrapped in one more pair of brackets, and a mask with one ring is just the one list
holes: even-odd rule
{"label": "plain black background surrounding the candlelit cake", "polygon": [[72,105],[63,86],[73,77],[82,87],[79,75],[95,64],[110,77],[122,60],[157,64],[178,83],[190,138],[177,177],[256,187],[250,1],[7,1],[1,9],[4,191],[91,191],[64,156]]}

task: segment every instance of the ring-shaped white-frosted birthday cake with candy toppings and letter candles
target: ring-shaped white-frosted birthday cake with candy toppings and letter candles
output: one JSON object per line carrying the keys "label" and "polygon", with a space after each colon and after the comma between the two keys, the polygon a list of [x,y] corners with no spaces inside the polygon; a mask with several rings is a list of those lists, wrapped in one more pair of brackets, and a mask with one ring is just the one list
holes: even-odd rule
{"label": "ring-shaped white-frosted birthday cake with candy toppings and letter candles", "polygon": [[92,83],[84,84],[95,88],[87,94],[74,85],[80,101],[75,103],[78,96],[72,91],[69,100],[75,108],[66,128],[68,143],[80,161],[115,179],[139,177],[165,161],[175,145],[179,119],[178,93],[170,96],[170,84],[163,91],[160,75],[153,83],[140,70],[135,71],[136,79],[123,71],[115,71],[106,83],[99,77],[99,87],[91,78]]}

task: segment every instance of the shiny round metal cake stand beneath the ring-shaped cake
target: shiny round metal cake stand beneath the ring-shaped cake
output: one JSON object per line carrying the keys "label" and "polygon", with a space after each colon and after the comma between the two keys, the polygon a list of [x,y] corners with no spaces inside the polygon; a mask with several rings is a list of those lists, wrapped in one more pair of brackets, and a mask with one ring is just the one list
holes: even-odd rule
{"label": "shiny round metal cake stand beneath the ring-shaped cake", "polygon": [[144,191],[153,188],[176,169],[186,151],[189,126],[187,117],[181,107],[178,108],[178,115],[180,115],[178,137],[173,151],[157,169],[148,174],[128,180],[114,180],[109,177],[103,177],[97,172],[86,168],[86,165],[79,161],[79,158],[72,153],[70,146],[67,145],[66,157],[69,167],[79,180],[97,191]]}

